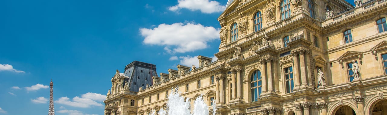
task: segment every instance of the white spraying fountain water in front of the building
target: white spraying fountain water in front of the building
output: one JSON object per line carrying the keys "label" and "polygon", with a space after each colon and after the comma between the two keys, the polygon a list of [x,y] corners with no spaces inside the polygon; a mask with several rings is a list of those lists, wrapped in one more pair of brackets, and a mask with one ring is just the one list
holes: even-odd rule
{"label": "white spraying fountain water in front of the building", "polygon": [[[166,108],[161,108],[158,112],[159,115],[208,115],[208,106],[204,103],[203,96],[200,95],[194,101],[194,111],[191,113],[190,108],[190,99],[187,98],[184,100],[184,97],[178,91],[179,87],[176,86],[175,89],[172,88],[171,93],[168,96],[168,103]],[[212,115],[216,113],[215,100],[213,101]],[[166,109],[166,110],[164,110]],[[154,114],[154,110],[152,110],[151,115]]]}

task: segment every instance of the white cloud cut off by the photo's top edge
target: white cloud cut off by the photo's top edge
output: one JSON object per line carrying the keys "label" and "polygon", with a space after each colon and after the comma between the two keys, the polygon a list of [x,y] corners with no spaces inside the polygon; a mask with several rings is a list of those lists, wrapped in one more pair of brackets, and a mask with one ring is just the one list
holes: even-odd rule
{"label": "white cloud cut off by the photo's top edge", "polygon": [[200,10],[202,13],[211,14],[214,12],[223,12],[226,6],[220,5],[217,1],[210,0],[178,0],[179,4],[169,7],[169,10],[178,12],[180,9],[189,9],[192,11]]}

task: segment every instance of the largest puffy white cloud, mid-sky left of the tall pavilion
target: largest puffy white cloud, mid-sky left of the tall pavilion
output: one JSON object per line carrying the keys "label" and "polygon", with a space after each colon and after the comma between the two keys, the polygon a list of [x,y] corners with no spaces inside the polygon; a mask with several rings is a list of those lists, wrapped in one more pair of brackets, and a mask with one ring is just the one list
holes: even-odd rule
{"label": "largest puffy white cloud, mid-sky left of the tall pavilion", "polygon": [[219,29],[188,22],[160,24],[151,29],[140,28],[140,34],[148,45],[165,46],[168,53],[185,53],[207,48],[207,42],[219,39]]}

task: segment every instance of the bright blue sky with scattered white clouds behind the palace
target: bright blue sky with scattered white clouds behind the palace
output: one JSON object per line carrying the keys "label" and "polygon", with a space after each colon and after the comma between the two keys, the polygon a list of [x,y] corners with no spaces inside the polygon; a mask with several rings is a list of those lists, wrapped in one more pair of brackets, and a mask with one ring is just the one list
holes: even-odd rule
{"label": "bright blue sky with scattered white clouds behind the palace", "polygon": [[103,115],[116,69],[199,67],[218,51],[227,0],[192,1],[0,1],[0,115],[47,114],[51,79],[56,115]]}

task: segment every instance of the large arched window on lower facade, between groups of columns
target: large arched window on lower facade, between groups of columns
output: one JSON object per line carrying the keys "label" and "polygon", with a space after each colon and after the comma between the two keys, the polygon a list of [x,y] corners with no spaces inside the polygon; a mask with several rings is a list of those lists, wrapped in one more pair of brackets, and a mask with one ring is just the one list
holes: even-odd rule
{"label": "large arched window on lower facade, between groups of columns", "polygon": [[259,95],[262,93],[262,78],[261,72],[255,70],[251,74],[251,102],[258,101]]}

